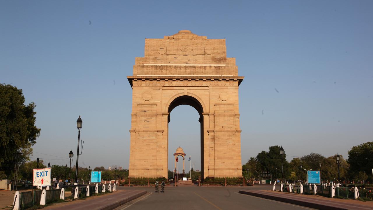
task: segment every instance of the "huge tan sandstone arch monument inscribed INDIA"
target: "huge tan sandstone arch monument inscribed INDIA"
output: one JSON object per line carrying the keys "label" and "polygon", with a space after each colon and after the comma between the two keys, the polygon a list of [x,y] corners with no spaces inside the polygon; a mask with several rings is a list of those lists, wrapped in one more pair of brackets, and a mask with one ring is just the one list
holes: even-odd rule
{"label": "huge tan sandstone arch monument inscribed INDIA", "polygon": [[[135,58],[129,177],[167,177],[170,112],[194,107],[201,124],[201,177],[242,177],[238,76],[225,39],[182,30],[146,38]],[[188,129],[188,127],[185,127]]]}

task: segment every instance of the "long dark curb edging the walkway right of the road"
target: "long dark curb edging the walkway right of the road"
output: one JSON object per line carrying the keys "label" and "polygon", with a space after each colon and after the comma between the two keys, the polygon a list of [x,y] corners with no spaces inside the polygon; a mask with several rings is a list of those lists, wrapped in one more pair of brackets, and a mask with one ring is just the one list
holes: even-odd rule
{"label": "long dark curb edging the walkway right of the road", "polygon": [[309,207],[313,209],[320,209],[320,210],[348,210],[345,208],[340,208],[340,207],[334,207],[334,206],[327,206],[327,205],[322,205],[322,204],[317,204],[317,203],[310,203],[307,201],[300,201],[300,200],[295,200],[295,199],[289,199],[289,198],[283,198],[283,197],[278,197],[278,196],[272,196],[272,195],[264,195],[256,192],[250,192],[250,191],[239,191],[238,193],[241,194],[246,194],[246,195],[252,195],[260,198],[266,198],[269,200],[275,200],[275,201],[280,201],[284,203],[291,203],[295,204],[298,206],[304,206],[304,207]]}

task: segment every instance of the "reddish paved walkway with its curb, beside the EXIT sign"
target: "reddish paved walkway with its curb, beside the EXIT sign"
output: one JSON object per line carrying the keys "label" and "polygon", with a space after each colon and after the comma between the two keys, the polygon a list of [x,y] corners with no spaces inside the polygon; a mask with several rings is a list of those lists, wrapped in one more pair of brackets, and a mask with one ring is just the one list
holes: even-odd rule
{"label": "reddish paved walkway with its curb, beside the EXIT sign", "polygon": [[144,190],[122,190],[113,192],[110,195],[103,196],[100,198],[98,196],[92,200],[84,200],[79,203],[71,202],[71,204],[59,206],[59,207],[52,207],[53,210],[82,210],[82,209],[90,209],[90,210],[111,210],[115,209],[129,201],[132,201],[142,195],[147,194],[147,191]]}

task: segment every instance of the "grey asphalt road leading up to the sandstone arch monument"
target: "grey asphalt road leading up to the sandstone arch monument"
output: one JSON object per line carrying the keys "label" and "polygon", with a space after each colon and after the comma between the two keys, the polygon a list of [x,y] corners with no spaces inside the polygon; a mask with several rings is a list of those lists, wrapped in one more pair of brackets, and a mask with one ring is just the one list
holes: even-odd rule
{"label": "grey asphalt road leading up to the sandstone arch monument", "polygon": [[121,189],[141,189],[149,193],[116,210],[136,210],[136,209],[269,209],[269,210],[292,210],[310,209],[279,201],[267,200],[250,195],[238,194],[242,189],[271,189],[272,186],[248,186],[248,187],[166,187],[164,193],[155,193],[153,188],[122,188]]}

